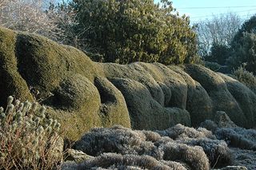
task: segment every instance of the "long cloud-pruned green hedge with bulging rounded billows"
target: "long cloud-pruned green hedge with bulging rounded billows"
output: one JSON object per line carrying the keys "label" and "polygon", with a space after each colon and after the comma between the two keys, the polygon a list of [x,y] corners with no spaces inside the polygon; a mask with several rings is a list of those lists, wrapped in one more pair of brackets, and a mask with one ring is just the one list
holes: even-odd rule
{"label": "long cloud-pruned green hedge with bulging rounded billows", "polygon": [[10,95],[36,98],[71,140],[102,126],[155,130],[199,125],[219,110],[237,125],[256,123],[255,93],[203,66],[102,64],[71,46],[3,28],[0,80],[1,105]]}

